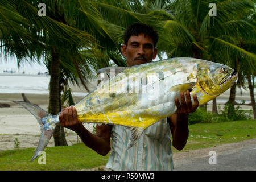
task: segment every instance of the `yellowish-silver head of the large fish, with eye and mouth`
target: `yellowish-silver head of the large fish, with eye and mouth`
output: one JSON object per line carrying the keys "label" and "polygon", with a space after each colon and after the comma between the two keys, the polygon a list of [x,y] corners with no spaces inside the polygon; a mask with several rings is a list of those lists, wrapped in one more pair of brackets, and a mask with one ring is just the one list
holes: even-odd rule
{"label": "yellowish-silver head of the large fish, with eye and mouth", "polygon": [[205,61],[197,66],[197,82],[201,89],[211,96],[219,96],[237,80],[234,69],[218,63]]}

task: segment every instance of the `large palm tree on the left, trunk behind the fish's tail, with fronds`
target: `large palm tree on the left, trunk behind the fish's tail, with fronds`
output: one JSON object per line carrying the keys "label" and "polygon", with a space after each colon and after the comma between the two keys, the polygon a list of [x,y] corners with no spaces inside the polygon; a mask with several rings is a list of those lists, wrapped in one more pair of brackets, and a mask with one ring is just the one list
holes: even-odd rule
{"label": "large palm tree on the left, trunk behind the fish's tail, with fronds", "polygon": [[[87,1],[41,2],[47,5],[46,17],[38,16],[37,1],[1,1],[0,18],[4,23],[0,25],[0,36],[6,55],[16,55],[18,64],[24,59],[45,57],[51,75],[49,112],[57,114],[60,111],[60,73],[76,83],[76,78],[80,78],[86,88],[85,80],[95,67],[92,63],[96,66],[102,63],[95,63],[92,57],[85,59],[80,51],[105,48],[108,52],[121,38],[118,35],[122,28],[102,20]],[[108,65],[108,61],[105,60],[104,65]],[[120,60],[117,63],[122,65]],[[63,68],[61,72],[60,68]],[[67,144],[60,133],[53,134],[55,146]]]}

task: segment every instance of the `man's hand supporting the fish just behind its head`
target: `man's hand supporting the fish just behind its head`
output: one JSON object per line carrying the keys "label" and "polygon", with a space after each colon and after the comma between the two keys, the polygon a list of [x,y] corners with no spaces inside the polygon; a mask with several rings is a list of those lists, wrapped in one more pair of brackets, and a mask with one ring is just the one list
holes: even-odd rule
{"label": "man's hand supporting the fish just behind its head", "polygon": [[195,104],[192,106],[189,90],[187,90],[187,92],[186,92],[186,99],[187,99],[187,102],[185,100],[184,92],[180,93],[181,105],[180,105],[179,99],[175,98],[175,104],[177,106],[177,114],[193,113],[196,111],[197,107],[199,106],[199,101],[197,100],[196,95],[193,95],[193,100],[194,100]]}

